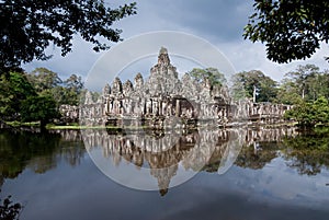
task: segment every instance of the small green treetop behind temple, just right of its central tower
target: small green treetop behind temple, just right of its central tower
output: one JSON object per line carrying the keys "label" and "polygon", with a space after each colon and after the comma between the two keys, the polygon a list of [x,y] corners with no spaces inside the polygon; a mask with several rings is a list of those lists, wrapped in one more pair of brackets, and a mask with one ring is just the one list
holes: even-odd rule
{"label": "small green treetop behind temple, just right of its central tower", "polygon": [[211,85],[219,85],[226,83],[225,76],[218,71],[216,68],[194,68],[190,72],[188,72],[194,80],[196,80],[200,83],[204,83],[205,80],[208,80]]}

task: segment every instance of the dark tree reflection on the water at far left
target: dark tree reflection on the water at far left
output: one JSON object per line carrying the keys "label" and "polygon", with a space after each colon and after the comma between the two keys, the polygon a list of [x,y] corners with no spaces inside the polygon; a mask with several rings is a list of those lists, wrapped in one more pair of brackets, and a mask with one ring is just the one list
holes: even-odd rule
{"label": "dark tree reflection on the water at far left", "polygon": [[[76,165],[83,155],[80,137],[71,131],[32,132],[0,130],[0,173],[3,178],[16,177],[25,167],[45,173],[56,167],[57,154]],[[80,142],[77,141],[80,138]]]}

